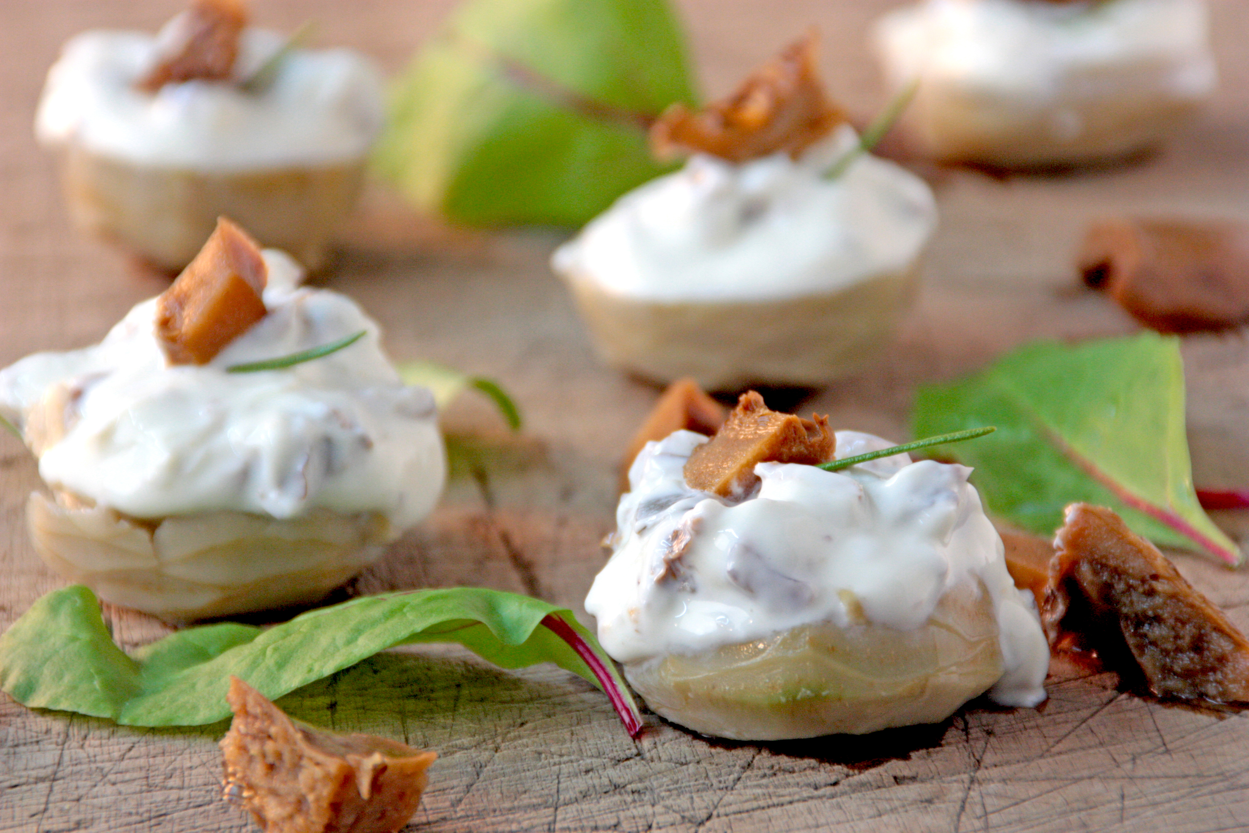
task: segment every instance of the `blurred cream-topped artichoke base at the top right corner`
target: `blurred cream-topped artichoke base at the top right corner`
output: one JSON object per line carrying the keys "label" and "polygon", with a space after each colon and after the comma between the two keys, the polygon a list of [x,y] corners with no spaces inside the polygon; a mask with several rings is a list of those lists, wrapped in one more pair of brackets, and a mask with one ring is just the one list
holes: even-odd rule
{"label": "blurred cream-topped artichoke base at the top right corner", "polygon": [[876,31],[922,149],[1005,167],[1158,145],[1214,91],[1209,37],[1204,0],[921,0]]}

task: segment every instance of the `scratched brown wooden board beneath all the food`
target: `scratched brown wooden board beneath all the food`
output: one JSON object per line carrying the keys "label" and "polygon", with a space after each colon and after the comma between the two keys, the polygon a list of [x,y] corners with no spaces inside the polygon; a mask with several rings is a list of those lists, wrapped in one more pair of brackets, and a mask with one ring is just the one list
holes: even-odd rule
{"label": "scratched brown wooden board beneath all the food", "polygon": [[[261,21],[322,22],[322,37],[387,70],[451,0],[257,0]],[[868,0],[686,0],[711,92],[811,22],[853,112],[882,100],[864,34],[892,5]],[[926,283],[879,365],[818,392],[804,410],[902,437],[914,385],[979,367],[1040,337],[1132,330],[1074,288],[1070,252],[1107,211],[1249,215],[1249,6],[1215,4],[1222,92],[1199,124],[1143,164],[1078,176],[995,180],[939,172],[942,227]],[[162,286],[66,224],[51,160],[30,131],[59,44],[91,26],[155,27],[175,0],[24,0],[0,10],[0,363],[97,340]],[[481,402],[447,415],[461,436],[436,515],[358,578],[352,592],[482,583],[580,608],[612,523],[615,465],[654,390],[598,367],[546,267],[551,232],[453,231],[370,194],[325,281],[357,297],[393,355],[502,380],[528,417],[511,440]],[[1189,347],[1203,426],[1237,436],[1249,420],[1240,336]],[[1245,431],[1245,428],[1239,428]],[[1197,442],[1197,441],[1195,441]],[[1215,442],[1202,466],[1235,481]],[[1207,443],[1209,446],[1209,443]],[[1197,452],[1194,452],[1197,453]],[[1199,455],[1200,457],[1200,455]],[[1229,465],[1229,462],[1232,465]],[[1239,483],[1247,485],[1249,477]],[[31,458],[0,432],[0,628],[60,587],[31,551]],[[1243,518],[1225,515],[1233,527]],[[1182,569],[1249,627],[1249,581],[1195,557]],[[164,632],[109,609],[134,646]],[[598,692],[551,668],[502,672],[458,651],[387,654],[284,701],[296,716],[436,749],[412,829],[428,831],[1147,831],[1249,828],[1249,716],[1220,719],[1114,691],[1105,676],[1057,668],[1040,709],[974,703],[937,727],[802,743],[708,742],[647,717],[629,741]],[[117,728],[27,711],[0,696],[0,829],[246,831],[219,797],[215,741],[199,731]]]}

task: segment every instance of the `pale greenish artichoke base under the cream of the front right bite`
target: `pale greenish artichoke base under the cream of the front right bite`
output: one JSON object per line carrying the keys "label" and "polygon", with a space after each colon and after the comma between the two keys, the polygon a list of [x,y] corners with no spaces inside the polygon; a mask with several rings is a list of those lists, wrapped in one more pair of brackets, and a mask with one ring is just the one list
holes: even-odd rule
{"label": "pale greenish artichoke base under the cream of the front right bite", "polygon": [[656,713],[702,734],[782,741],[938,723],[1002,676],[983,584],[945,593],[927,624],[804,624],[624,667]]}

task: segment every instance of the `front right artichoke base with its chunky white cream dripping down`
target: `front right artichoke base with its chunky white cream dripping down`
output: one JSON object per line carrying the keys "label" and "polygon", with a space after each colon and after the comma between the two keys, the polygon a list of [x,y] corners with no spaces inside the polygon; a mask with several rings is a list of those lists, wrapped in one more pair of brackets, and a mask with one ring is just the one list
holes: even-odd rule
{"label": "front right artichoke base with its chunky white cream dripping down", "polygon": [[[838,457],[891,445],[836,438]],[[638,455],[586,597],[652,709],[764,741],[939,722],[984,692],[1044,699],[1035,603],[1007,572],[969,468],[762,462],[733,500],[686,483],[704,442],[678,431]]]}

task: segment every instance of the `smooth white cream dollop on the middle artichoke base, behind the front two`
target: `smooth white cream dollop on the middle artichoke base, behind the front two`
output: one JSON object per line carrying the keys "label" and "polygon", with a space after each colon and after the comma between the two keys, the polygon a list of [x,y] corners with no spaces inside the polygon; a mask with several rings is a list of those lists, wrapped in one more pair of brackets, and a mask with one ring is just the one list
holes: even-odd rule
{"label": "smooth white cream dollop on the middle artichoke base, behind the front two", "polygon": [[797,161],[696,154],[617,200],[552,267],[654,301],[786,298],[906,270],[937,224],[932,190],[867,154],[826,179],[857,141],[842,125]]}

